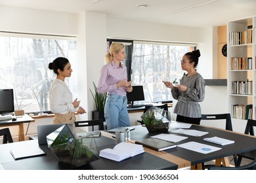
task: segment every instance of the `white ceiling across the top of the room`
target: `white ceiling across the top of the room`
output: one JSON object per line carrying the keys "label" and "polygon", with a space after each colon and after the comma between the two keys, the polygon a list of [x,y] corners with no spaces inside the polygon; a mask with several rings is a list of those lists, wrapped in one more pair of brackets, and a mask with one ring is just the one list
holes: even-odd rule
{"label": "white ceiling across the top of the room", "polygon": [[0,0],[0,5],[75,14],[87,10],[110,18],[192,27],[221,26],[256,15],[256,0]]}

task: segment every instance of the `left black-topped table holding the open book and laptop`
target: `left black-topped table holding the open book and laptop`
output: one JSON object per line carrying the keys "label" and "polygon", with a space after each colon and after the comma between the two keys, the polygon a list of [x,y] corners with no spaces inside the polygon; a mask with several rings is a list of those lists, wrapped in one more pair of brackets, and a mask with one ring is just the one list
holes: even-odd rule
{"label": "left black-topped table holding the open book and laptop", "polygon": [[[108,137],[95,137],[98,146],[98,152],[104,148],[113,148],[116,144],[114,139]],[[60,170],[64,169],[59,165],[58,160],[54,157],[47,145],[41,145],[40,148],[47,154],[46,156],[38,156],[33,158],[14,160],[10,154],[12,148],[38,146],[37,140],[13,142],[10,144],[0,145],[0,162],[4,169],[26,169],[26,170]],[[175,163],[171,163],[163,158],[154,156],[148,152],[139,154],[120,162],[110,159],[99,158],[87,165],[79,167],[79,169],[95,169],[95,170],[146,170],[146,169],[177,169]]]}

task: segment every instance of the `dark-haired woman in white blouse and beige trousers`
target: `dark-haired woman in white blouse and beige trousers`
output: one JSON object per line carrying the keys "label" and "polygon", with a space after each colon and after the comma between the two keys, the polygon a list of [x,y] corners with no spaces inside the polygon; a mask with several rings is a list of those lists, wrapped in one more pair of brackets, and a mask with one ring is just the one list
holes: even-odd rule
{"label": "dark-haired woman in white blouse and beige trousers", "polygon": [[80,107],[80,101],[73,101],[72,93],[65,83],[65,78],[70,77],[73,70],[66,58],[56,58],[49,63],[49,69],[57,75],[50,90],[50,108],[54,113],[53,124],[74,124],[75,112],[85,113]]}

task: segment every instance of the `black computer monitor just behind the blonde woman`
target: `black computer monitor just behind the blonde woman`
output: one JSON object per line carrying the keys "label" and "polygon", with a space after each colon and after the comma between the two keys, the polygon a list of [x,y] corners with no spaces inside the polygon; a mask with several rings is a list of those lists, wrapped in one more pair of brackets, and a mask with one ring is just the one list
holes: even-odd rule
{"label": "black computer monitor just behind the blonde woman", "polygon": [[144,101],[143,86],[133,86],[133,92],[127,92],[127,101],[133,106],[134,101]]}

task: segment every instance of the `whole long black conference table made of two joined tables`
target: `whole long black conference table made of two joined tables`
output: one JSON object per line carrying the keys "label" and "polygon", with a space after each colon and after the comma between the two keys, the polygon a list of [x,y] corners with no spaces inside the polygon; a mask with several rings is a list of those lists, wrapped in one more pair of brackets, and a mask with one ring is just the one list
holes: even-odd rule
{"label": "whole long black conference table made of two joined tables", "polygon": [[[129,142],[135,142],[140,139],[146,139],[148,137],[151,137],[152,135],[158,135],[160,133],[163,133],[148,133],[148,130],[143,125],[135,125],[133,127],[135,127],[135,129],[131,131],[131,140]],[[203,135],[202,137],[181,135],[187,136],[188,138],[177,142],[177,148],[171,148],[169,150],[158,152],[156,150],[144,147],[145,153],[139,154],[132,158],[125,159],[120,162],[112,161],[105,158],[99,158],[96,161],[79,167],[79,169],[179,169],[189,166],[195,167],[195,165],[200,165],[207,161],[223,159],[224,157],[232,156],[234,154],[240,154],[242,152],[256,150],[256,138],[249,135],[226,131],[224,129],[218,129],[214,127],[206,127],[203,125],[192,125],[190,129],[207,131],[209,133]],[[175,129],[169,129],[169,131],[166,133],[172,133],[171,131],[173,130]],[[108,131],[102,131],[101,137],[95,137],[98,152],[104,148],[113,148],[116,145],[115,140],[112,138],[112,135],[113,133],[108,133]],[[203,141],[203,138],[205,137],[215,136],[224,139],[230,139],[234,141],[234,143],[221,146],[218,144],[213,144],[211,142]],[[208,144],[210,146],[219,147],[221,149],[215,152],[211,152],[209,154],[202,154],[199,152],[188,150],[186,148],[179,147],[179,144],[191,141]],[[38,146],[38,142],[37,140],[31,140],[14,142],[10,144],[1,144],[0,162],[4,169],[64,169],[60,166],[58,160],[53,156],[47,145],[39,146],[47,154],[46,156],[26,158],[15,161],[9,152],[12,148],[15,148],[17,146],[28,146],[29,148],[32,146]],[[217,162],[220,163],[221,161]]]}

